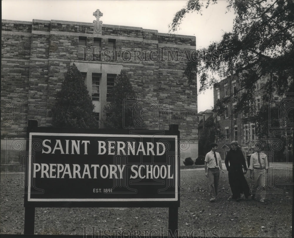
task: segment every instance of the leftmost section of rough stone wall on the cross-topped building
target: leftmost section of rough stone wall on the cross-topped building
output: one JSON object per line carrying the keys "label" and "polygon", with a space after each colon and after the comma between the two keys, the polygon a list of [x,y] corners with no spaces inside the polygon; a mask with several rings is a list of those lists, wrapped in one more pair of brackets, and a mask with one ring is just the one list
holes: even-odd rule
{"label": "leftmost section of rough stone wall on the cross-topped building", "polygon": [[2,21],[1,136],[16,130],[24,137],[28,118],[31,23]]}

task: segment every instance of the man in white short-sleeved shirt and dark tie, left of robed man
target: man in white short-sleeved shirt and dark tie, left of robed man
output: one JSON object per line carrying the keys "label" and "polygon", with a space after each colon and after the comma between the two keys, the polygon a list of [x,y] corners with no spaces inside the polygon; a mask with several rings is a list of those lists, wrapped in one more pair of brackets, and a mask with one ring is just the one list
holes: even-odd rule
{"label": "man in white short-sleeved shirt and dark tie, left of robed man", "polygon": [[211,143],[211,151],[205,156],[205,175],[209,179],[210,183],[210,202],[215,202],[216,196],[218,195],[218,180],[220,177],[220,170],[223,172],[223,167],[221,164],[220,154],[216,152],[218,145],[216,143]]}

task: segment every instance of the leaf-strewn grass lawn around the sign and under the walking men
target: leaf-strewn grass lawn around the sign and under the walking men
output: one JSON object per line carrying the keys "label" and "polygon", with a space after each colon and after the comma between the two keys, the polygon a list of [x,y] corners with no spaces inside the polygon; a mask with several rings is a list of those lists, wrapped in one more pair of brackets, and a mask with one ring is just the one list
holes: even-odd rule
{"label": "leaf-strewn grass lawn around the sign and under the walking men", "polygon": [[[247,181],[252,186],[249,179]],[[20,173],[7,174],[21,180]],[[219,195],[209,202],[208,178],[204,170],[181,170],[181,207],[178,211],[179,236],[220,237],[292,237],[292,169],[274,169],[273,182],[264,203],[242,199],[230,200],[228,173],[220,175]],[[7,182],[1,173],[1,183]],[[16,190],[17,192],[12,192]],[[23,234],[24,194],[21,185],[1,185],[0,234]],[[167,235],[168,208],[36,208],[35,234],[79,234],[83,227],[99,230],[128,229],[137,235]],[[145,230],[145,231],[144,231]],[[147,231],[146,231],[147,230]],[[106,233],[110,233],[106,231]],[[115,233],[112,233],[113,235]],[[128,231],[125,233],[128,235]]]}

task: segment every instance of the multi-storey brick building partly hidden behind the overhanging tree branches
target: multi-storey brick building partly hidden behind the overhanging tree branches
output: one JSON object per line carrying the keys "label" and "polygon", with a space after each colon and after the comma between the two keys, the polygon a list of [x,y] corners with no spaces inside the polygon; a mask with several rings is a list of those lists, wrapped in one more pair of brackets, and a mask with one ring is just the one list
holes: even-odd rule
{"label": "multi-storey brick building partly hidden behind the overhanging tree branches", "polygon": [[[244,156],[253,153],[254,151],[250,147],[250,143],[253,140],[258,139],[255,135],[255,127],[257,126],[255,121],[250,117],[258,112],[263,103],[268,105],[268,102],[262,101],[261,86],[265,83],[266,78],[260,78],[255,84],[255,105],[254,111],[248,112],[248,115],[242,113],[236,113],[234,97],[238,98],[244,92],[244,90],[238,91],[240,88],[239,78],[237,76],[230,76],[213,87],[214,104],[217,99],[222,99],[232,95],[232,99],[228,103],[223,115],[217,115],[216,120],[222,128],[222,133],[225,136],[222,140],[218,141],[218,150],[222,157],[225,158],[227,152],[230,150],[230,142],[232,140],[238,141]],[[281,99],[278,95],[273,95],[272,100],[276,100],[277,103]],[[279,104],[279,103],[278,103]],[[277,105],[278,106],[278,105]],[[265,122],[268,123],[268,122]]]}

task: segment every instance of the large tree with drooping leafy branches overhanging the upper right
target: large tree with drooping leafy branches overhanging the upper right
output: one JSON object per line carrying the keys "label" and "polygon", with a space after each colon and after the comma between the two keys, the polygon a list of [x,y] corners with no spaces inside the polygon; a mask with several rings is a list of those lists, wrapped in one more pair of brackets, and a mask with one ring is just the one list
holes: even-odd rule
{"label": "large tree with drooping leafy branches overhanging the upper right", "polygon": [[[293,92],[293,20],[292,0],[228,0],[228,11],[234,11],[233,30],[225,32],[222,40],[213,42],[203,53],[218,52],[218,58],[198,58],[187,63],[185,76],[193,84],[196,75],[200,78],[202,92],[213,86],[220,78],[237,76],[240,86],[234,97],[238,113],[248,112],[254,103],[255,83],[266,78],[262,85],[263,99],[271,98],[273,93],[285,94],[289,88]],[[184,16],[191,12],[201,14],[203,7],[217,4],[217,0],[190,0],[178,11],[170,24],[170,31],[176,31]],[[209,60],[208,60],[209,59]],[[244,90],[243,90],[244,89]],[[214,111],[223,113],[230,97],[218,100]]]}

